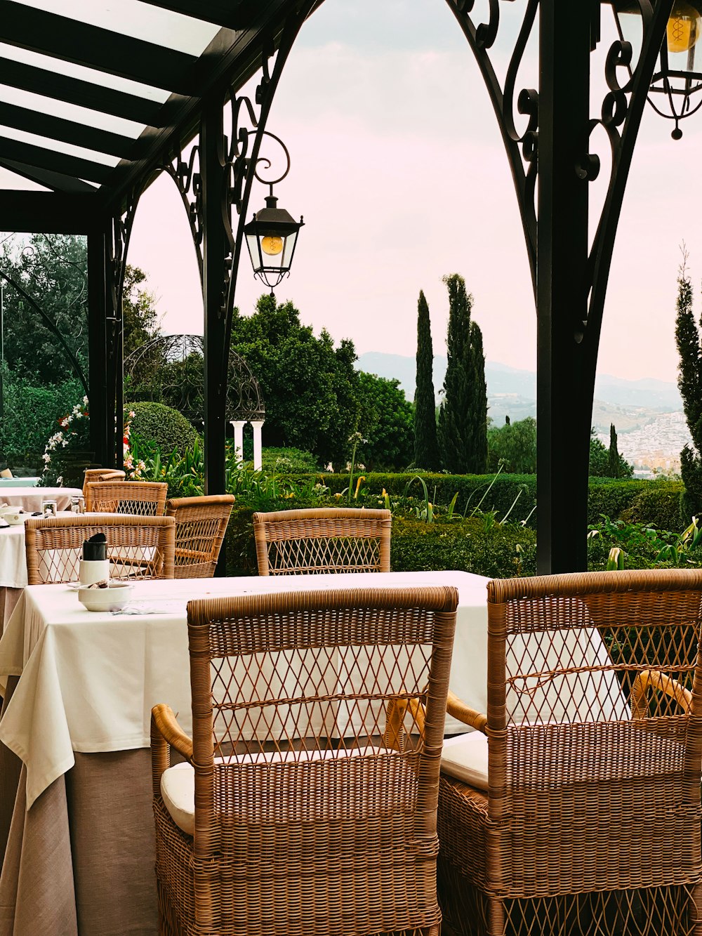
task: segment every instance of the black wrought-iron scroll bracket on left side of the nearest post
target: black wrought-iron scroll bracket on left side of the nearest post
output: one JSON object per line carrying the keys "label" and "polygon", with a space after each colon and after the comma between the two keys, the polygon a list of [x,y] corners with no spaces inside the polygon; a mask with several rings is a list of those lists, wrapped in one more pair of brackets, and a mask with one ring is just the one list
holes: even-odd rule
{"label": "black wrought-iron scroll bracket on left side of the nearest post", "polygon": [[519,35],[507,67],[505,83],[501,85],[490,61],[490,48],[500,28],[500,4],[505,0],[490,0],[487,22],[475,23],[471,19],[474,0],[446,0],[461,30],[468,40],[485,81],[493,110],[505,143],[517,192],[521,224],[524,229],[529,265],[532,271],[534,295],[536,291],[536,168],[538,155],[538,93],[524,88],[517,95],[517,112],[526,116],[526,128],[519,132],[515,121],[515,88],[519,66],[524,58],[527,42],[534,28],[539,0],[528,0]]}

